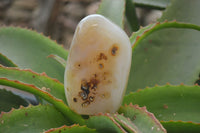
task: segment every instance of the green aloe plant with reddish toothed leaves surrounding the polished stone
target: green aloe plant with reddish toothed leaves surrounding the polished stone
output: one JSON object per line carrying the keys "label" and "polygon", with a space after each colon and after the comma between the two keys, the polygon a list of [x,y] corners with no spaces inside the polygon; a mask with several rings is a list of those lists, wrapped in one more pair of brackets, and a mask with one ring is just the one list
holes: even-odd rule
{"label": "green aloe plant with reddish toothed leaves surrounding the polished stone", "polygon": [[[138,29],[135,6],[165,11],[157,23]],[[119,77],[128,80],[126,93],[120,108],[110,113],[81,115],[68,106],[64,71],[69,51],[35,31],[1,27],[0,132],[200,132],[199,6],[198,0],[101,1],[98,14],[121,29],[126,17],[135,31],[129,37],[129,78]],[[39,104],[8,87],[33,94]]]}

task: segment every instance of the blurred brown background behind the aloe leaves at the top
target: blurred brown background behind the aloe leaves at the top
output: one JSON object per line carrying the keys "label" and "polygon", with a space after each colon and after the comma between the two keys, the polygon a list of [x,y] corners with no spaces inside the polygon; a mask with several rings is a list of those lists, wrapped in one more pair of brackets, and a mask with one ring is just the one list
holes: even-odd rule
{"label": "blurred brown background behind the aloe leaves at the top", "polygon": [[[0,0],[0,25],[36,30],[68,49],[78,22],[83,17],[94,14],[99,4],[100,0]],[[162,3],[158,10],[141,8],[140,1],[136,0],[140,25],[156,22],[166,5],[167,3]],[[125,22],[125,30],[130,35],[129,28],[126,27]]]}

